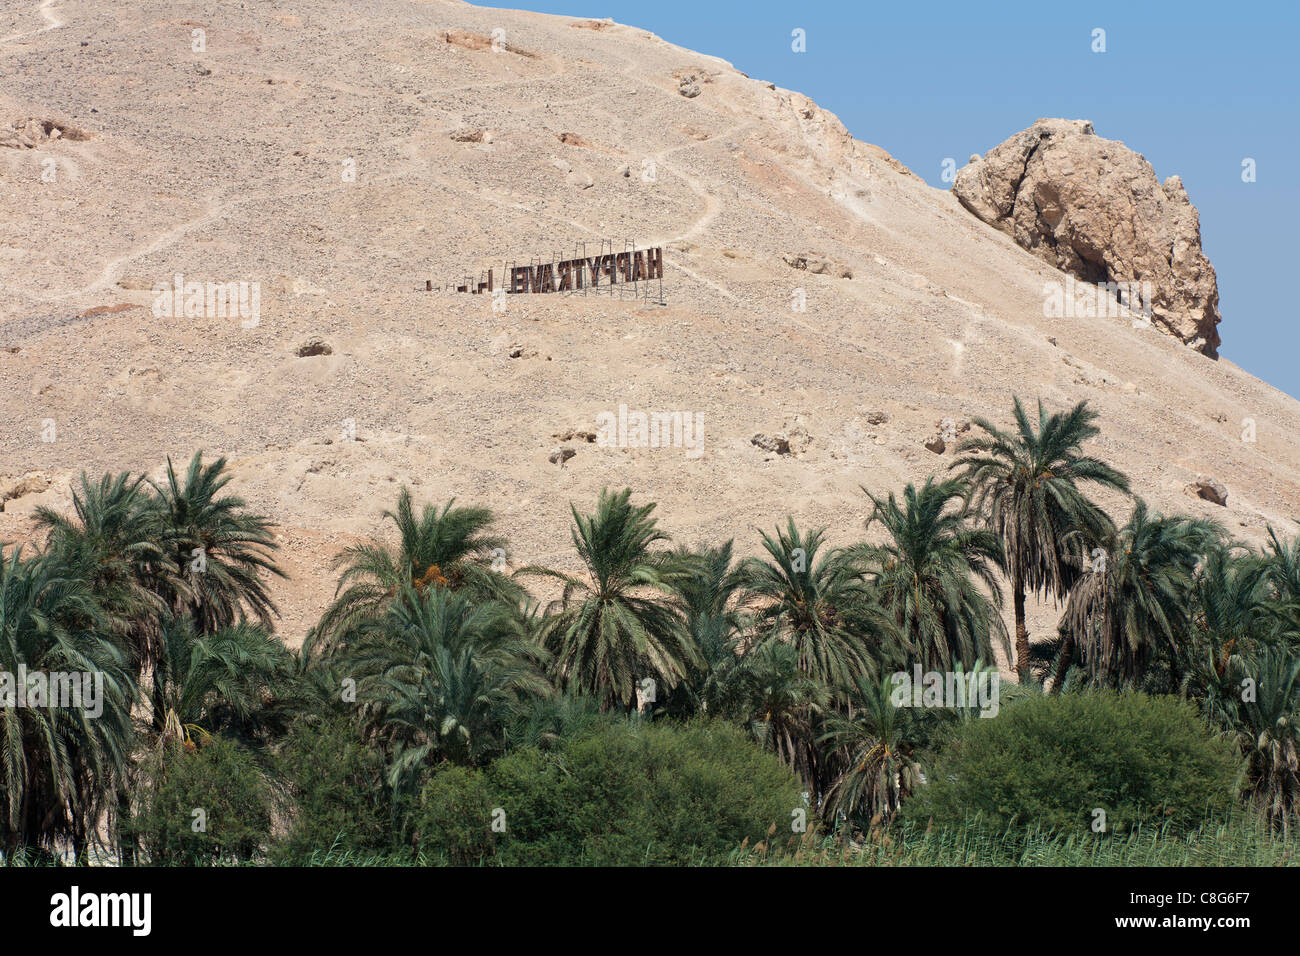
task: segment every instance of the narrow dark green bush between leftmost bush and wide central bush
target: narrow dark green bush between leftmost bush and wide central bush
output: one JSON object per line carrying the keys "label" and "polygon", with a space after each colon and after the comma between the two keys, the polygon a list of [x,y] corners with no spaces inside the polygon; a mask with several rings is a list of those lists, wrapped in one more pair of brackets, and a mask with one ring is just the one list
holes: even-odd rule
{"label": "narrow dark green bush between leftmost bush and wide central bush", "polygon": [[351,721],[294,724],[278,769],[291,810],[289,832],[272,848],[276,865],[313,862],[325,852],[393,849],[384,756],[365,745]]}

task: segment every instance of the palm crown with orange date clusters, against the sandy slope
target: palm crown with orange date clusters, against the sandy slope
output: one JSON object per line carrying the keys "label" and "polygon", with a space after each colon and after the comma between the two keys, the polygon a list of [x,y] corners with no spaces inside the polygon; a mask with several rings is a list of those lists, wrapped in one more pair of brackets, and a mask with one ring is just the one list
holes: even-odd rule
{"label": "palm crown with orange date clusters, against the sandy slope", "polygon": [[523,598],[523,591],[502,574],[506,538],[489,533],[494,519],[488,509],[455,507],[452,498],[441,511],[425,505],[416,516],[411,489],[403,485],[396,507],[385,510],[384,518],[396,525],[395,546],[368,541],[334,558],[334,567],[343,572],[317,627],[322,646],[346,640],[358,626],[382,615],[406,585],[421,592],[446,585],[511,604]]}

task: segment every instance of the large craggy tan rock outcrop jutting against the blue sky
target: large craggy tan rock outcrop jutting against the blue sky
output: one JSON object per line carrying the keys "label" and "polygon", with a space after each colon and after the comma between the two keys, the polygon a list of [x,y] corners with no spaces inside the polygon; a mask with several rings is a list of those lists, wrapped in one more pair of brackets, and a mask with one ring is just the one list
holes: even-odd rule
{"label": "large craggy tan rock outcrop jutting against the blue sky", "polygon": [[1218,355],[1218,282],[1183,182],[1087,120],[1039,120],[957,173],[975,216],[1086,282],[1150,282],[1152,323]]}

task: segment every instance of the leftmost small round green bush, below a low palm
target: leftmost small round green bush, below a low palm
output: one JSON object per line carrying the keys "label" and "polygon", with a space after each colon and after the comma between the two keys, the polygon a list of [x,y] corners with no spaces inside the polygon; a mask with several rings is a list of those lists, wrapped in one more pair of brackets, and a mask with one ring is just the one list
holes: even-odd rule
{"label": "leftmost small round green bush, below a low palm", "polygon": [[272,793],[252,754],[214,737],[169,745],[144,763],[129,825],[151,864],[211,865],[257,856],[270,834]]}

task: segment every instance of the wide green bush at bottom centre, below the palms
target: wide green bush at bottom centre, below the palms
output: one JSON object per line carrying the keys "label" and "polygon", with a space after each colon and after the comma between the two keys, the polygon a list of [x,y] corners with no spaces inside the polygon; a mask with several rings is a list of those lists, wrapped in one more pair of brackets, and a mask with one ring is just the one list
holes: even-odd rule
{"label": "wide green bush at bottom centre, below the palms", "polygon": [[441,769],[422,803],[430,857],[530,866],[723,862],[774,826],[789,832],[803,805],[794,774],[729,724],[618,718],[482,773]]}

